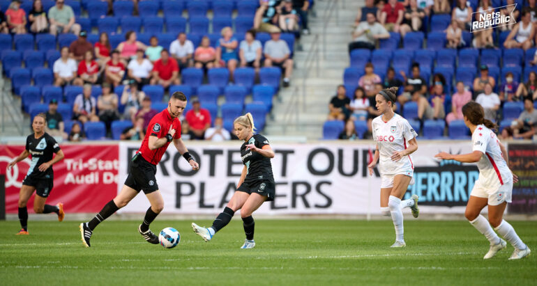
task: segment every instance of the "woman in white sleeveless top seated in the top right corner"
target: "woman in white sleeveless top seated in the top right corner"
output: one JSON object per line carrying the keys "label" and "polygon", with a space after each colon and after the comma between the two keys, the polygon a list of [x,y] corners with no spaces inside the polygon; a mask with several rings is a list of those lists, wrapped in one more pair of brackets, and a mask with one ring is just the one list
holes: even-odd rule
{"label": "woman in white sleeveless top seated in the top right corner", "polygon": [[515,24],[504,42],[506,49],[527,49],[534,47],[535,27],[531,23],[529,10],[522,10],[521,21]]}

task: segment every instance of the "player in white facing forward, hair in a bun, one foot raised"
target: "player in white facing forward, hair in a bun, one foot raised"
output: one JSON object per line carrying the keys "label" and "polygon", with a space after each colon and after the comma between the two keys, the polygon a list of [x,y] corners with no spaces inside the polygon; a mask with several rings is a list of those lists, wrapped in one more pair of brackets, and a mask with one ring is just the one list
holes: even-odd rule
{"label": "player in white facing forward, hair in a bun, one foot raised", "polygon": [[410,207],[415,218],[419,215],[418,196],[412,195],[401,201],[409,184],[414,184],[414,165],[410,154],[418,150],[415,138],[418,134],[406,119],[393,113],[397,90],[395,87],[383,89],[375,97],[381,115],[371,123],[377,148],[368,168],[369,175],[373,175],[373,168],[380,158],[380,211],[384,216],[391,216],[395,225],[395,244],[391,247],[404,247],[407,244],[403,237],[402,208]]}

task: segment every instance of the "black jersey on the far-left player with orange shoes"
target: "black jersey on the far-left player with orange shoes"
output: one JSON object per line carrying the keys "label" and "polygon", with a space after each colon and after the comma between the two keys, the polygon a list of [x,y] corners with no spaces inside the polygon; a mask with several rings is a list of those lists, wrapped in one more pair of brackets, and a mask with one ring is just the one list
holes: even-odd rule
{"label": "black jersey on the far-left player with orange shoes", "polygon": [[28,169],[27,176],[31,176],[36,179],[51,178],[54,177],[54,171],[52,166],[41,172],[39,166],[52,160],[52,153],[57,153],[60,150],[60,146],[56,140],[47,134],[43,134],[39,138],[35,138],[33,134],[26,138],[26,150],[31,154],[31,164]]}

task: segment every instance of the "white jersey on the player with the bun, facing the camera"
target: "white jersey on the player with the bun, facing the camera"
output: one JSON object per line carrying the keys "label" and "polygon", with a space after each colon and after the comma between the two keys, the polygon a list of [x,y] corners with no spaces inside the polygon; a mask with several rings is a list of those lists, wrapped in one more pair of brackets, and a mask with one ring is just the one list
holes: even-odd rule
{"label": "white jersey on the player with the bun, facing the camera", "polygon": [[400,152],[407,149],[407,141],[418,136],[409,122],[395,113],[388,122],[384,122],[382,116],[377,116],[373,119],[371,127],[373,140],[377,141],[379,146],[380,173],[393,175],[414,170],[410,155],[402,157],[399,161],[391,160],[394,151]]}

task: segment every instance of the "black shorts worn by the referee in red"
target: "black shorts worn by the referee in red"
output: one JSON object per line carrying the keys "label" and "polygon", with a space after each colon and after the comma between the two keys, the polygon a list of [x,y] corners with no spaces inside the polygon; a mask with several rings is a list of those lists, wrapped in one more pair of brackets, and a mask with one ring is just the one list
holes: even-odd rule
{"label": "black shorts worn by the referee in red", "polygon": [[133,164],[130,165],[125,185],[136,191],[144,190],[145,194],[153,193],[158,190],[155,174],[157,166],[149,163],[144,157],[139,156]]}

